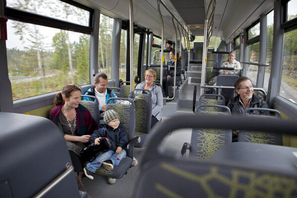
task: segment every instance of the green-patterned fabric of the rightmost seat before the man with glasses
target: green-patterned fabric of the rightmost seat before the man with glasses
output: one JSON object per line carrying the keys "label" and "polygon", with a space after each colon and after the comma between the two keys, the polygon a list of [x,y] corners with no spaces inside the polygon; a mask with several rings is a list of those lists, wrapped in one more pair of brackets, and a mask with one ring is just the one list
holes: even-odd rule
{"label": "green-patterned fabric of the rightmost seat before the man with glasses", "polygon": [[[252,117],[273,117],[267,115],[247,115]],[[279,119],[277,117],[273,117]],[[259,131],[246,131],[241,130],[238,135],[238,142],[249,142],[249,143],[259,143],[266,145],[283,145],[282,134],[269,133],[269,132],[259,132]]]}

